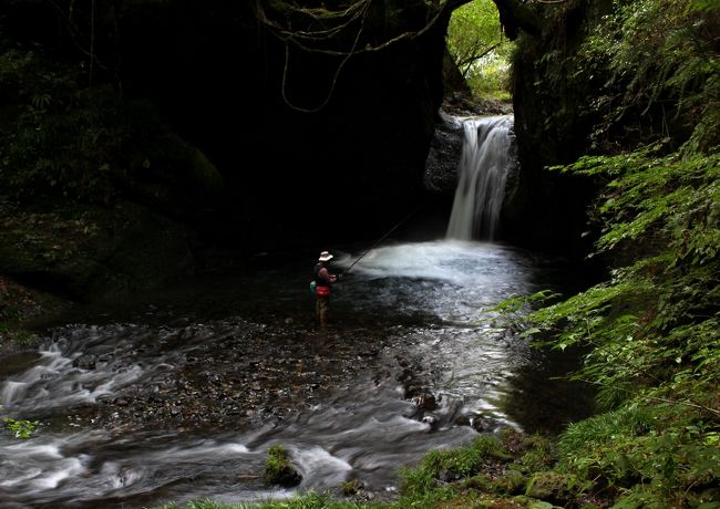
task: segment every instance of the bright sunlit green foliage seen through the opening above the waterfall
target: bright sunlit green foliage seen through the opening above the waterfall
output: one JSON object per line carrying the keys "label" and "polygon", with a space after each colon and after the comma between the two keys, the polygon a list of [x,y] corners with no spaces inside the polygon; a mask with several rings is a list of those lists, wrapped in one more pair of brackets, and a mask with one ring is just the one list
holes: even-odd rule
{"label": "bright sunlit green foliage seen through the opening above the waterfall", "polygon": [[513,43],[503,35],[492,0],[474,0],[453,11],[446,43],[475,96],[508,98]]}

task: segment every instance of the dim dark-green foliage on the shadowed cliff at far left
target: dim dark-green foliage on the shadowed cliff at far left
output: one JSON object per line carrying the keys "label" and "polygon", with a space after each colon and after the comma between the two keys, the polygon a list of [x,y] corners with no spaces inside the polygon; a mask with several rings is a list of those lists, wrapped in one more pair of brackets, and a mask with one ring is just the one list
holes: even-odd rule
{"label": "dim dark-green foliage on the shadowed cliff at far left", "polygon": [[113,121],[116,94],[83,90],[80,75],[38,54],[0,54],[0,175],[7,196],[102,194],[126,136]]}

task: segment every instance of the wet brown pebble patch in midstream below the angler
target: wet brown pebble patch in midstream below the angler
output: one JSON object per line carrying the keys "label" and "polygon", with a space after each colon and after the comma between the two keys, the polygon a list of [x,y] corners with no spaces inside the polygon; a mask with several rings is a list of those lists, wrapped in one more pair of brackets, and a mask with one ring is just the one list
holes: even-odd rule
{"label": "wet brown pebble patch in midstream below the angler", "polygon": [[[199,328],[188,328],[175,337],[198,335]],[[178,352],[183,355],[181,362],[177,357],[167,357],[156,364],[150,346],[145,349],[145,357],[137,359],[136,355],[141,355],[137,344],[124,344],[124,350],[115,345],[112,362],[117,364],[116,370],[135,367],[143,362],[152,366],[150,376],[101,398],[93,414],[81,422],[90,424],[92,419],[93,426],[104,426],[113,433],[164,428],[178,433],[181,429],[208,432],[271,425],[315,405],[325,392],[352,391],[349,382],[357,380],[358,372],[368,368],[368,359],[376,353],[387,355],[388,362],[388,368],[373,378],[376,383],[381,384],[397,374],[394,354],[398,350],[394,347],[349,342],[342,335],[328,336],[318,345],[307,340],[307,332],[298,335],[297,329],[265,330],[258,334],[258,328],[245,322],[241,325],[233,323],[233,334],[223,336],[222,354],[217,347],[204,343],[192,354]],[[126,366],[122,365],[123,359],[127,360]],[[421,363],[400,362],[408,366],[404,373],[408,382],[403,385],[415,387],[413,395],[430,395],[424,388],[428,383],[414,380],[415,373],[422,372]],[[432,408],[431,402],[432,397],[424,396],[416,402],[420,406],[410,405],[411,418],[421,419],[424,412]]]}

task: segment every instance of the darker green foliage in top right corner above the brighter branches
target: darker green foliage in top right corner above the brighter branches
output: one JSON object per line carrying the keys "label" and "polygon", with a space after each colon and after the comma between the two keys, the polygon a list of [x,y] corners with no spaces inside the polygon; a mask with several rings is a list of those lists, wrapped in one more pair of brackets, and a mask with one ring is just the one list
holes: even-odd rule
{"label": "darker green foliage in top right corner above the brighter branches", "polygon": [[647,143],[685,141],[688,132],[696,150],[713,148],[720,126],[717,8],[717,0],[614,1],[570,63],[578,76],[604,80],[592,104],[601,118],[596,148],[611,149],[618,135]]}

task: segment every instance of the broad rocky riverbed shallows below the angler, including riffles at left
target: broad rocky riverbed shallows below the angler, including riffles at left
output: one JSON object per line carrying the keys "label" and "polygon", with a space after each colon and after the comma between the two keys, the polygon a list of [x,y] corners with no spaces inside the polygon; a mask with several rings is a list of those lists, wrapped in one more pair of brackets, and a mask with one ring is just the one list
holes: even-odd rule
{"label": "broad rocky riverbed shallows below the angler, including riffles at left", "polygon": [[[121,340],[102,341],[106,335]],[[39,405],[23,418],[51,428],[104,428],[116,435],[238,430],[278,423],[337,391],[351,394],[361,372],[378,382],[397,381],[399,398],[416,402],[421,418],[420,411],[431,407],[435,396],[423,381],[429,373],[403,353],[402,337],[402,328],[370,337],[362,329],[318,331],[240,319],[60,328],[49,344],[65,359],[63,376],[74,377],[91,397],[66,415]],[[11,359],[9,376],[39,361],[30,352]],[[103,394],[103,385],[120,388]]]}

